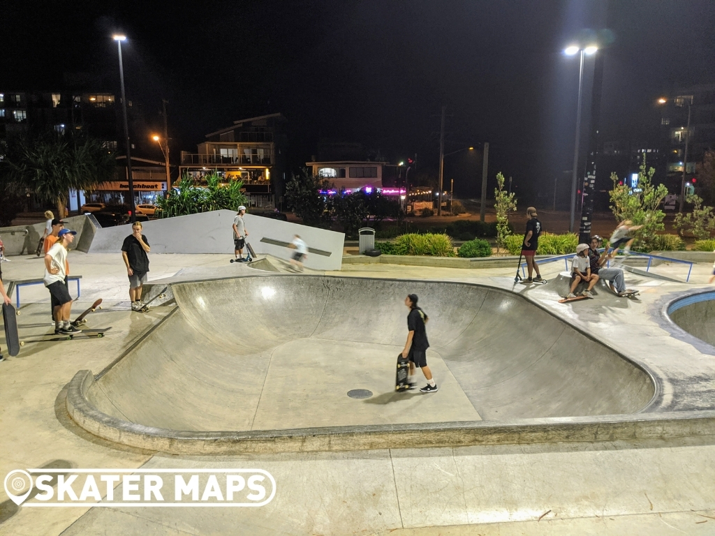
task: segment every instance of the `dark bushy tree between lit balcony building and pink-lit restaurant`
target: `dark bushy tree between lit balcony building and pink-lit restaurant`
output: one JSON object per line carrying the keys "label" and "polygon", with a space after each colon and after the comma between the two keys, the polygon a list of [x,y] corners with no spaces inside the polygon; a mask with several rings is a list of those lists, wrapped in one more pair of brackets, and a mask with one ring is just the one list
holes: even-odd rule
{"label": "dark bushy tree between lit balcony building and pink-lit restaurant", "polygon": [[[306,225],[326,227],[332,221],[332,201],[327,191],[332,184],[302,169],[285,185],[285,199]],[[325,193],[324,193],[325,192]]]}

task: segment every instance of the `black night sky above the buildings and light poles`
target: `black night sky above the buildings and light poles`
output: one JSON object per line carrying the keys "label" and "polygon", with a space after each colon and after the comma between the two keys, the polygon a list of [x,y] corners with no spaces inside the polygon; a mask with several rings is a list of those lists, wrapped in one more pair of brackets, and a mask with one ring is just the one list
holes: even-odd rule
{"label": "black night sky above the buildings and light poles", "polygon": [[[51,91],[64,72],[89,71],[118,94],[111,34],[122,31],[127,97],[157,123],[169,100],[174,155],[235,119],[280,111],[294,167],[316,154],[318,139],[334,139],[392,162],[417,153],[420,169],[436,169],[446,104],[446,152],[490,142],[490,176],[502,170],[529,197],[571,169],[578,57],[561,51],[583,29],[613,32],[603,51],[602,141],[647,140],[658,96],[715,81],[715,2],[611,4],[7,2],[0,86]],[[588,87],[593,60],[586,64]],[[477,196],[480,174],[478,154],[445,161],[458,194]]]}

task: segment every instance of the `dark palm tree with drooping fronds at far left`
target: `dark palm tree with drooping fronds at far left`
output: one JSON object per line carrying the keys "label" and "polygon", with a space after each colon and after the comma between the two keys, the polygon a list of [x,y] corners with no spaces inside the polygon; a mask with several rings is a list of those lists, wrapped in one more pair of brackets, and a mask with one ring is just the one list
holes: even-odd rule
{"label": "dark palm tree with drooping fronds at far left", "polygon": [[91,190],[112,180],[114,154],[97,139],[49,132],[11,139],[6,173],[16,193],[29,191],[39,202],[52,203],[64,214],[69,190]]}

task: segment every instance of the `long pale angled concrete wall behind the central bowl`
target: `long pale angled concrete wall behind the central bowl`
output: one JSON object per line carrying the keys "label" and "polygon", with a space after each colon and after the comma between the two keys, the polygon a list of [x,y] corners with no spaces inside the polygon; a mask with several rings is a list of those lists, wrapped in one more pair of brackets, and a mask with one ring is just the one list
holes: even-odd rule
{"label": "long pale angled concrete wall behind the central bowl", "polygon": [[[234,251],[233,219],[235,212],[215,210],[144,222],[144,234],[154,253],[227,254]],[[248,242],[257,254],[272,254],[290,259],[293,249],[285,247],[294,234],[307,243],[309,254],[305,266],[313,269],[340,269],[345,234],[317,227],[282,222],[279,219],[245,215]],[[132,226],[118,225],[97,230],[89,253],[117,253]],[[246,253],[246,252],[244,252]]]}

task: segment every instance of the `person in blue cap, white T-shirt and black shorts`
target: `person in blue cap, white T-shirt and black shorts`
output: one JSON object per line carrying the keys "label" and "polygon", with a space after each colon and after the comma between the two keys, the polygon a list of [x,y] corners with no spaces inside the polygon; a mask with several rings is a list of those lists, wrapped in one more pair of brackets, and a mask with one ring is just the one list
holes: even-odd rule
{"label": "person in blue cap, white T-shirt and black shorts", "polygon": [[69,229],[62,229],[58,234],[58,241],[45,254],[45,274],[44,284],[49,290],[54,307],[54,332],[71,335],[79,332],[79,329],[69,323],[69,316],[72,309],[72,298],[69,295],[66,283],[67,249],[74,241],[77,232]]}

